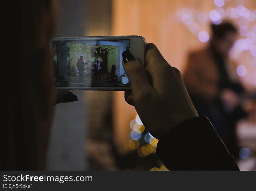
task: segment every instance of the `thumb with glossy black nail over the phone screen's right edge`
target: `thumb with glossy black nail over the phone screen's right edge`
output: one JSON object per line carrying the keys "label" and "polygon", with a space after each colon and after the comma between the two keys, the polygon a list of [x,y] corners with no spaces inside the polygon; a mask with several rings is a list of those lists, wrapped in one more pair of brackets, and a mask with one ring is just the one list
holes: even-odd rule
{"label": "thumb with glossy black nail over the phone screen's right edge", "polygon": [[133,92],[143,92],[150,88],[150,83],[147,79],[147,74],[144,65],[134,58],[130,51],[122,53],[122,64],[125,73],[130,78],[131,88]]}

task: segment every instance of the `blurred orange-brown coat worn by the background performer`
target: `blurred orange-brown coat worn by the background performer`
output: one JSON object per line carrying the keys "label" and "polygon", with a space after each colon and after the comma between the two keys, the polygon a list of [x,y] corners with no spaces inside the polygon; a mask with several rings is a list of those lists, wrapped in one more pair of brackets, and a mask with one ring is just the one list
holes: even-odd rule
{"label": "blurred orange-brown coat worn by the background performer", "polygon": [[[229,78],[237,81],[234,63],[225,62]],[[189,54],[183,80],[191,97],[211,103],[219,94],[220,74],[210,49]]]}

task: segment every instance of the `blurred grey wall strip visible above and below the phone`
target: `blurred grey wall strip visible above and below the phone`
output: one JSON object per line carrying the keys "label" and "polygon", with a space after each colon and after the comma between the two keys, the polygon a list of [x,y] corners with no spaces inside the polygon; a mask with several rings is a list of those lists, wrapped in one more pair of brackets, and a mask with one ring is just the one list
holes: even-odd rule
{"label": "blurred grey wall strip visible above and below the phone", "polygon": [[[87,1],[59,0],[55,36],[83,36],[86,33]],[[74,92],[78,101],[56,105],[47,170],[85,170],[86,94]]]}

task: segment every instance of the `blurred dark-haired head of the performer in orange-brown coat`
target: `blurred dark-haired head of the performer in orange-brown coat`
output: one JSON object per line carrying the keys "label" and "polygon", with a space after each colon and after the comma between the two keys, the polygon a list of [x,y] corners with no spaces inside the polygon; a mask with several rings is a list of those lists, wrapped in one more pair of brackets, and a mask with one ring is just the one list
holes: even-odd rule
{"label": "blurred dark-haired head of the performer in orange-brown coat", "polygon": [[231,23],[224,22],[218,25],[211,24],[211,31],[211,47],[220,55],[227,56],[236,39],[237,29]]}

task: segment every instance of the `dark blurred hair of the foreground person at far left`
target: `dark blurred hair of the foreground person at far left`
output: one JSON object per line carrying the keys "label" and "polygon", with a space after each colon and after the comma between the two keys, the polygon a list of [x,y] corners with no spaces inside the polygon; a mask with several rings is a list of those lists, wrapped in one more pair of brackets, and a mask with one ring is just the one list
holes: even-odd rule
{"label": "dark blurred hair of the foreground person at far left", "polygon": [[[6,80],[8,89],[8,170],[45,169],[45,156],[55,104],[50,40],[55,1],[22,0],[10,3],[15,33],[15,62]],[[9,6],[7,4],[7,6]],[[12,36],[12,35],[10,35]],[[13,49],[13,43],[6,46]],[[6,56],[9,57],[10,56]]]}

